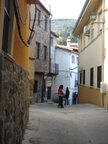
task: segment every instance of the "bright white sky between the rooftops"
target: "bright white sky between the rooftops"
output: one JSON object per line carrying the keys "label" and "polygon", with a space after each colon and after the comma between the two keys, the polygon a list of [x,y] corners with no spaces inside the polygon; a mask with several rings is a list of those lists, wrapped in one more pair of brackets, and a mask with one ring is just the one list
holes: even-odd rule
{"label": "bright white sky between the rooftops", "polygon": [[41,0],[48,5],[51,5],[52,19],[77,19],[80,15],[85,0]]}

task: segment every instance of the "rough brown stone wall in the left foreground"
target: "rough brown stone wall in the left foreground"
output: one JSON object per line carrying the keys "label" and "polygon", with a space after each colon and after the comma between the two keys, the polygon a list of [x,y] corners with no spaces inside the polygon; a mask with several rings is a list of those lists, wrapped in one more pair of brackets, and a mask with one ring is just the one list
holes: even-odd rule
{"label": "rough brown stone wall in the left foreground", "polygon": [[0,144],[21,144],[28,122],[28,73],[0,52]]}

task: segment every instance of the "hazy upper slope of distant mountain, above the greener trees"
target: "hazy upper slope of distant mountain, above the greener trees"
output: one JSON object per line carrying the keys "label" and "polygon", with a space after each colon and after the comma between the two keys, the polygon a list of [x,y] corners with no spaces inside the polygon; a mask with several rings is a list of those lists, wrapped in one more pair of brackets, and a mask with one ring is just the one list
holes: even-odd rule
{"label": "hazy upper slope of distant mountain, above the greener trees", "polygon": [[75,26],[76,19],[54,19],[51,23],[52,31],[60,32],[65,27],[71,26],[72,28]]}

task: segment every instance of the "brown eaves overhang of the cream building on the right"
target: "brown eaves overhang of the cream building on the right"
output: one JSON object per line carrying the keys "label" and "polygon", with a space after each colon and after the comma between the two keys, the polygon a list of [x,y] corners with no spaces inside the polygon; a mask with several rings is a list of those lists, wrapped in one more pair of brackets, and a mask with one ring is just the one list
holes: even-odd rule
{"label": "brown eaves overhang of the cream building on the right", "polygon": [[102,0],[86,0],[80,16],[76,22],[73,29],[73,34],[75,36],[80,36],[83,31],[84,26],[89,22],[90,14],[96,12],[98,5]]}

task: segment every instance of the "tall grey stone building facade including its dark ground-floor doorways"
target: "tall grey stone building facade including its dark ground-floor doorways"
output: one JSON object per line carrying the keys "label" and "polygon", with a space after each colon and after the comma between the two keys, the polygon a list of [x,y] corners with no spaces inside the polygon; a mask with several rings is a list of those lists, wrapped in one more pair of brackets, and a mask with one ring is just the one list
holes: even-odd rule
{"label": "tall grey stone building facade including its dark ground-floor doorways", "polygon": [[[34,8],[31,13],[35,13]],[[35,60],[34,71],[34,101],[43,102],[46,94],[46,78],[49,73],[50,55],[50,12],[38,0],[36,3],[35,34],[32,43],[31,59]],[[34,62],[33,62],[34,65]]]}

